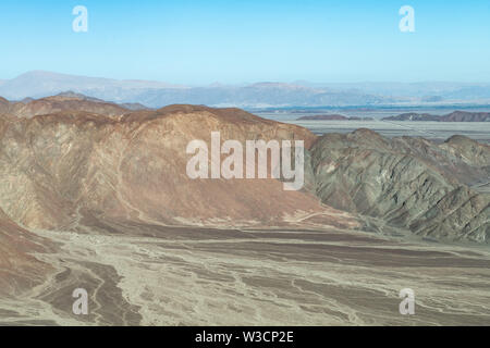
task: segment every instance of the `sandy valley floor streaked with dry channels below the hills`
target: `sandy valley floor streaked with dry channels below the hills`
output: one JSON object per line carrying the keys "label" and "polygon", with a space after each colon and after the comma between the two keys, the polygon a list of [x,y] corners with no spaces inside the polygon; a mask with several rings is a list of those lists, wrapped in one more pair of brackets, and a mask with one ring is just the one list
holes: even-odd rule
{"label": "sandy valley floor streaked with dry channels below the hills", "polygon": [[[490,325],[488,247],[400,243],[348,231],[106,224],[42,232],[59,253],[32,291],[0,299],[0,324]],[[86,231],[87,232],[87,231]],[[415,315],[399,313],[414,289]],[[72,291],[89,314],[72,313]]]}

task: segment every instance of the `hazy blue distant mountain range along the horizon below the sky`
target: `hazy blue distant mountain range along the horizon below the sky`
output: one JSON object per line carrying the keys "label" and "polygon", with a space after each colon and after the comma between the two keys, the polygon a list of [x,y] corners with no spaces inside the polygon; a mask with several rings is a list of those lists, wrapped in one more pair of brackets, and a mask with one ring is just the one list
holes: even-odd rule
{"label": "hazy blue distant mountain range along the horizon below the sky", "polygon": [[0,80],[0,96],[10,100],[44,98],[71,90],[117,103],[161,108],[173,103],[211,107],[284,108],[480,103],[490,104],[490,85],[463,83],[257,83],[182,86],[154,80],[118,80],[33,71]]}

